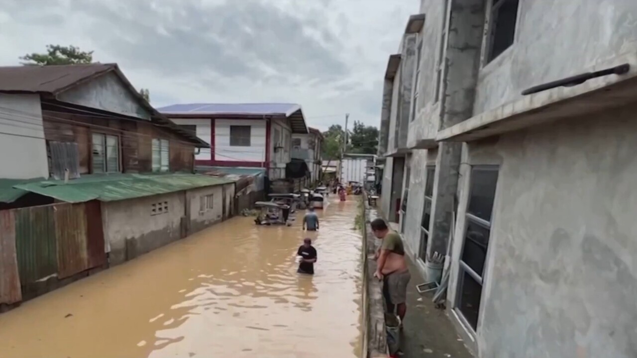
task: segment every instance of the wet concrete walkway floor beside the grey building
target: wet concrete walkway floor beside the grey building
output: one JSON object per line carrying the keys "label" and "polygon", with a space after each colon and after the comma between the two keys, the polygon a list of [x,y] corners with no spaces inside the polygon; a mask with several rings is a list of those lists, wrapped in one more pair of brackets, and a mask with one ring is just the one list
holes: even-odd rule
{"label": "wet concrete walkway floor beside the grey building", "polygon": [[403,358],[471,358],[464,341],[444,310],[435,308],[431,294],[421,295],[416,285],[424,283],[413,262],[407,261],[412,280],[407,287],[407,314],[401,333]]}

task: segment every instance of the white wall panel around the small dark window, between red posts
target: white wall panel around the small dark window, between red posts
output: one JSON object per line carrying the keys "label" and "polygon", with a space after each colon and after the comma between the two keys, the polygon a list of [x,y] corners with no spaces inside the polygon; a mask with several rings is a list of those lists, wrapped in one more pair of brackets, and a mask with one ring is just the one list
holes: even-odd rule
{"label": "white wall panel around the small dark window, between red posts", "polygon": [[[250,125],[250,147],[231,147],[230,126]],[[266,121],[253,119],[215,120],[215,161],[266,161]]]}

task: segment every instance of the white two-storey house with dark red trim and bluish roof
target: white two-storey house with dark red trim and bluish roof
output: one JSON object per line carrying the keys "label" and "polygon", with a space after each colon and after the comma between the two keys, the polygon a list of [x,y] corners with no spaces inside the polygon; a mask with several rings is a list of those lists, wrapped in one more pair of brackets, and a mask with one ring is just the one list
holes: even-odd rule
{"label": "white two-storey house with dark red trim and bluish roof", "polygon": [[173,104],[159,111],[210,144],[196,154],[197,165],[267,168],[271,180],[285,178],[292,134],[308,134],[298,104]]}

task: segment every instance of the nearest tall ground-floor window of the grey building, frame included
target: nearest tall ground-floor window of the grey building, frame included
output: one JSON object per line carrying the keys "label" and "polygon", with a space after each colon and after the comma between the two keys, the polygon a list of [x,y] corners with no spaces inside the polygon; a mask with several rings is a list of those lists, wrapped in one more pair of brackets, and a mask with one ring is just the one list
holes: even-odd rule
{"label": "nearest tall ground-floor window of the grey building, frame included", "polygon": [[478,326],[491,215],[496,196],[497,171],[497,166],[471,168],[455,308],[474,330]]}

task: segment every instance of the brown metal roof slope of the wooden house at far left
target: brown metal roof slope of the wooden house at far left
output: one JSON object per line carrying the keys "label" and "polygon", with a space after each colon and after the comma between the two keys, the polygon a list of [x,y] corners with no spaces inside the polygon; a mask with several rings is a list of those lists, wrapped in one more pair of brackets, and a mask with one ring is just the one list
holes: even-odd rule
{"label": "brown metal roof slope of the wooden house at far left", "polygon": [[55,94],[117,68],[117,64],[0,67],[0,92]]}

